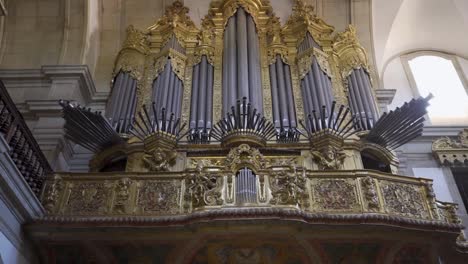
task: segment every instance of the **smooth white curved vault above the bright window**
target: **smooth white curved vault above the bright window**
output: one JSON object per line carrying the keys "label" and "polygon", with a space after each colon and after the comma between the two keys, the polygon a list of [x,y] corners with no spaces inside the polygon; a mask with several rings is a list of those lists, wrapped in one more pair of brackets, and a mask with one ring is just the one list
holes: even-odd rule
{"label": "smooth white curved vault above the bright window", "polygon": [[466,0],[373,0],[372,21],[380,74],[392,58],[416,50],[468,58]]}

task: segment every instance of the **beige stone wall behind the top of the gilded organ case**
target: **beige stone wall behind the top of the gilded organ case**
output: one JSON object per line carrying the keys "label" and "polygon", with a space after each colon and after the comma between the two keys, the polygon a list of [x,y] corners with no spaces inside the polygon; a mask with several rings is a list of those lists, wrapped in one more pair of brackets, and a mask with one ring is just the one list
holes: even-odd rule
{"label": "beige stone wall behind the top of the gilded organ case", "polygon": [[[9,14],[0,47],[0,68],[85,64],[97,90],[108,91],[125,29],[129,25],[145,29],[154,24],[173,1],[7,0]],[[370,0],[304,1],[314,5],[316,13],[337,31],[349,23],[356,24],[362,44],[372,51]],[[184,2],[199,25],[211,0]],[[294,1],[271,0],[271,4],[285,23]]]}

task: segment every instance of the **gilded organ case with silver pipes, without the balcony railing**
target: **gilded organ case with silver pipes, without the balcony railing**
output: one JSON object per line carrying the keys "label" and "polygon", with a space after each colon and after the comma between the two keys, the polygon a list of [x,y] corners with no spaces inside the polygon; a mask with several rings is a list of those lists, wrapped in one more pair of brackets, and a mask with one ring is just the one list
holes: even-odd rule
{"label": "gilded organ case with silver pipes, without the balcony railing", "polygon": [[[308,149],[300,166],[324,170],[365,168],[365,150],[395,169],[393,148],[421,133],[428,99],[379,120],[354,27],[334,32],[302,0],[284,25],[266,0],[213,1],[201,28],[187,14],[175,1],[145,31],[128,28],[104,117],[62,102],[68,138],[95,152],[92,170],[121,156],[130,172],[190,170],[199,157],[216,170],[210,158],[244,145],[290,159]],[[76,125],[105,131],[83,137]],[[252,203],[264,175],[241,165],[231,193]]]}

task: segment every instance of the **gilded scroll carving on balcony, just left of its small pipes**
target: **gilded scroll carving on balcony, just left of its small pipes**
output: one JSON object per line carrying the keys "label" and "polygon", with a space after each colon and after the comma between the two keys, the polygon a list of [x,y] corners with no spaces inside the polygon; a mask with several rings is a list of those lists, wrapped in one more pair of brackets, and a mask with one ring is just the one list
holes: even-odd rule
{"label": "gilded scroll carving on balcony, just left of its small pipes", "polygon": [[223,178],[218,175],[204,174],[201,170],[190,174],[186,179],[185,199],[192,208],[222,205],[221,188]]}

